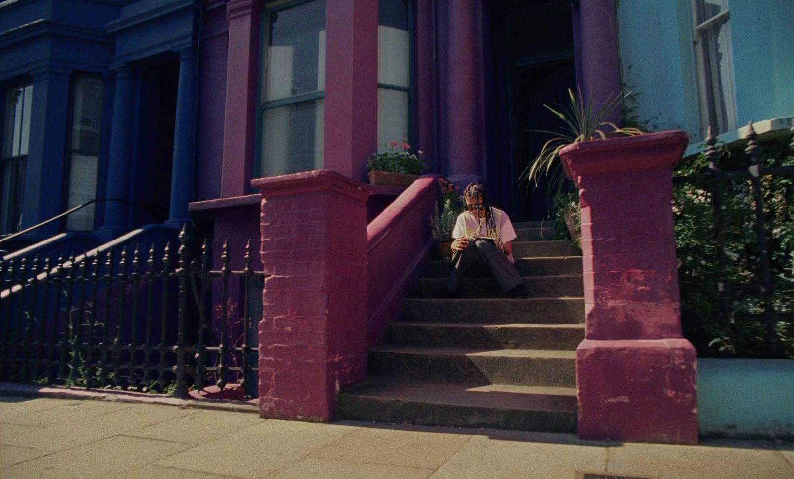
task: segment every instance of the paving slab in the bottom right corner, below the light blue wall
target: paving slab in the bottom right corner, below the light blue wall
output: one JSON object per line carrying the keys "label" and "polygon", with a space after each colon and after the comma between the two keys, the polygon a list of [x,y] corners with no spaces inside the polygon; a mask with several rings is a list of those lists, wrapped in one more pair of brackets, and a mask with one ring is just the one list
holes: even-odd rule
{"label": "paving slab in the bottom right corner, below the light blue wall", "polygon": [[669,444],[609,448],[607,472],[665,479],[794,479],[794,468],[771,449]]}

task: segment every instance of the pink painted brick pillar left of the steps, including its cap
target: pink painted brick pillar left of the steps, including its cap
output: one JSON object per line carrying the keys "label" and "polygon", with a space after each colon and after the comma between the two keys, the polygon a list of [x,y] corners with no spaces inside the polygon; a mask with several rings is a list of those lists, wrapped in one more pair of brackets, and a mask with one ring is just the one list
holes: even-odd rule
{"label": "pink painted brick pillar left of the steps, including its cap", "polygon": [[367,186],[336,171],[252,181],[262,194],[260,416],[333,419],[366,376]]}

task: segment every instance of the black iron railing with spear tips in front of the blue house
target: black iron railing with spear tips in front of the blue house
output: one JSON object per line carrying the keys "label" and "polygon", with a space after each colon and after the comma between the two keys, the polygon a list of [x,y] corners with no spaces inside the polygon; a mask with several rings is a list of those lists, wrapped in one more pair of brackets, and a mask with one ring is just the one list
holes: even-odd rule
{"label": "black iron railing with spear tips in front of the blue house", "polygon": [[210,270],[206,241],[192,262],[187,241],[183,228],[175,254],[168,244],[121,248],[82,262],[60,258],[52,269],[50,258],[37,258],[29,279],[24,260],[6,265],[0,377],[177,397],[233,381],[256,396],[252,305],[256,311],[264,276],[251,268],[250,241],[242,270],[229,267],[228,243],[221,269]]}

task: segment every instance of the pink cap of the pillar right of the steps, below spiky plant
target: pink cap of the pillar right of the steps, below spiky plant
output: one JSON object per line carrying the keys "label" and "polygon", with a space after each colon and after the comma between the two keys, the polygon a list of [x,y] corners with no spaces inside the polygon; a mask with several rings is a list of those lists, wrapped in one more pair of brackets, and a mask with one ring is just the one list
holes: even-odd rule
{"label": "pink cap of the pillar right of the steps, below spiky plant", "polygon": [[687,144],[687,133],[673,130],[570,144],[560,150],[560,158],[565,174],[578,186],[582,174],[672,166]]}

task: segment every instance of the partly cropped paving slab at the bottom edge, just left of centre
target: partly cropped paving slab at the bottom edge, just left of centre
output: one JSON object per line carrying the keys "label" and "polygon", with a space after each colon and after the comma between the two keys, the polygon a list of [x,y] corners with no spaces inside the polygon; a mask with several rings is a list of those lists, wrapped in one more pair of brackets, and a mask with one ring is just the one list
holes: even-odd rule
{"label": "partly cropped paving slab at the bottom edge, just left of centre", "polygon": [[372,462],[343,461],[329,458],[302,458],[268,474],[268,479],[295,479],[295,477],[322,477],[322,479],[420,479],[429,477],[434,469],[410,466],[373,464]]}

